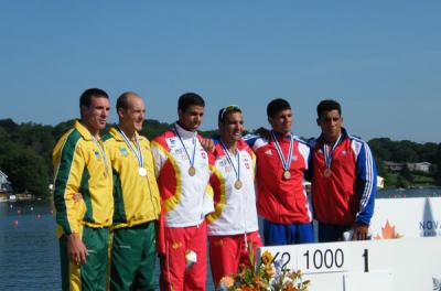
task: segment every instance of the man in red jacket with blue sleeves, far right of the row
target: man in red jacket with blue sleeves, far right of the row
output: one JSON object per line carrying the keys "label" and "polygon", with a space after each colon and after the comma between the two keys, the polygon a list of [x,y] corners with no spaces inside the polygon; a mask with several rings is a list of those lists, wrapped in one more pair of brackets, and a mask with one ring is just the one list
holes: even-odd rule
{"label": "man in red jacket with blue sleeves, far right of the row", "polygon": [[[312,201],[319,220],[319,241],[366,239],[377,186],[369,146],[342,127],[341,105],[323,100],[318,106],[322,134],[312,147]],[[349,234],[348,233],[348,234]]]}

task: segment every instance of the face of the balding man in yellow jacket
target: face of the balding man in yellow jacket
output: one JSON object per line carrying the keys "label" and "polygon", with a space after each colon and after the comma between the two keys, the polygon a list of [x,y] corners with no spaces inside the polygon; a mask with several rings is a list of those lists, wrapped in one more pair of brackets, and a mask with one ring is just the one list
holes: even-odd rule
{"label": "face of the balding man in yellow jacket", "polygon": [[146,106],[141,97],[130,94],[127,96],[127,108],[118,109],[119,126],[126,133],[135,133],[142,129],[146,118]]}

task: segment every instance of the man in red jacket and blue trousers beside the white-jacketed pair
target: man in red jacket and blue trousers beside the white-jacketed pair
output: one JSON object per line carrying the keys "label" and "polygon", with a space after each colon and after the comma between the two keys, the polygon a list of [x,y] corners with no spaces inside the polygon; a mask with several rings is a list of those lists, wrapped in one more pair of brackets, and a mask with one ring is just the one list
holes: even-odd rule
{"label": "man in red jacket and blue trousers beside the white-jacketed pair", "polygon": [[263,216],[266,246],[313,242],[312,214],[303,185],[310,148],[291,132],[291,106],[275,99],[267,107],[269,139],[247,138],[257,155],[257,212]]}

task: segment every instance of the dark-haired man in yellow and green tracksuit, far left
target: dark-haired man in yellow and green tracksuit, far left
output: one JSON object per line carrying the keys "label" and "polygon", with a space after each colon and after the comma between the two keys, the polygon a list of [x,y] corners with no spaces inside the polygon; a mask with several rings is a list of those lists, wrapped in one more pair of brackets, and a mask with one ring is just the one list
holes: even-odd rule
{"label": "dark-haired man in yellow and green tracksuit, far left", "polygon": [[[54,206],[63,290],[106,290],[108,236],[112,223],[112,176],[99,132],[106,127],[106,91],[87,89],[80,120],[53,150]],[[77,200],[82,193],[83,200]]]}

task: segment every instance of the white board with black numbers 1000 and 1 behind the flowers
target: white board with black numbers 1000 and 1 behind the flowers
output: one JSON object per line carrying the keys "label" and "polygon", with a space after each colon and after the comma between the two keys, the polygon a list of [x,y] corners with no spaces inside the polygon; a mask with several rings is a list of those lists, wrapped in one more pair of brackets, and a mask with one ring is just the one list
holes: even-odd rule
{"label": "white board with black numbers 1000 and 1 behind the flowers", "polygon": [[[302,271],[310,291],[438,290],[441,237],[261,247],[282,270]],[[438,281],[437,281],[438,280]]]}

